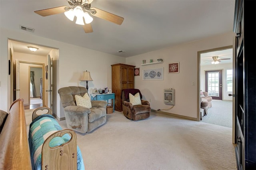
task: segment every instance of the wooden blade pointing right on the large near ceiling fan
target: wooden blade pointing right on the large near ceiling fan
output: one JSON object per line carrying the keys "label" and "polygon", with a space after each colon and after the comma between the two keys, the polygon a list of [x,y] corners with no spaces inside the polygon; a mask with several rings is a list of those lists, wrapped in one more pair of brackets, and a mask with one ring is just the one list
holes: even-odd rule
{"label": "wooden blade pointing right on the large near ceiling fan", "polygon": [[92,14],[98,18],[102,18],[104,20],[107,20],[107,21],[110,21],[110,22],[113,22],[115,24],[118,24],[118,25],[121,25],[122,22],[124,21],[124,18],[123,17],[120,17],[120,16],[117,16],[115,14],[111,14],[109,12],[106,12],[104,10],[100,10],[98,8],[91,8],[92,10],[96,10],[96,14]]}

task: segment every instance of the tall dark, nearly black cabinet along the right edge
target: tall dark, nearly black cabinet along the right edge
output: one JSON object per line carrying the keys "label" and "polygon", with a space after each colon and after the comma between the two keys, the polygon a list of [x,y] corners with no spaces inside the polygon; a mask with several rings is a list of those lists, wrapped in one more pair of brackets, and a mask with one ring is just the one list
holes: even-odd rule
{"label": "tall dark, nearly black cabinet along the right edge", "polygon": [[256,169],[256,1],[236,0],[236,160],[238,170]]}

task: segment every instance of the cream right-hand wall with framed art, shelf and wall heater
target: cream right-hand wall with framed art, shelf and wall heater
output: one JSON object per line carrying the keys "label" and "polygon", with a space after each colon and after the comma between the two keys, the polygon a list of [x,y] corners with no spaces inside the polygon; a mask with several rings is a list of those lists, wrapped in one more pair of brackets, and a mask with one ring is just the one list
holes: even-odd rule
{"label": "cream right-hand wall with framed art, shelf and wall heater", "polygon": [[[165,49],[128,57],[126,64],[140,67],[140,76],[135,76],[135,88],[141,90],[143,98],[150,100],[154,110],[168,109],[170,105],[164,104],[164,89],[175,89],[175,106],[168,113],[187,117],[198,117],[198,51],[224,47],[233,44],[233,32],[222,34],[203,40],[184,43]],[[156,61],[162,58],[164,63],[142,66],[142,60]],[[168,73],[168,64],[180,63],[180,73]],[[142,80],[143,69],[164,67],[164,80]],[[192,86],[192,81],[195,85]]]}

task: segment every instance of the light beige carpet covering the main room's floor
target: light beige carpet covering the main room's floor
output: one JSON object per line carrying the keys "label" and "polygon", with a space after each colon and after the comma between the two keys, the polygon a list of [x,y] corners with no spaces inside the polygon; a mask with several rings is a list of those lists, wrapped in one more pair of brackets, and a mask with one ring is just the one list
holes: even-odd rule
{"label": "light beige carpet covering the main room's floor", "polygon": [[[31,113],[26,111],[27,123]],[[67,128],[65,121],[60,125]],[[130,121],[115,111],[104,125],[77,139],[86,170],[236,169],[231,128],[155,112]]]}

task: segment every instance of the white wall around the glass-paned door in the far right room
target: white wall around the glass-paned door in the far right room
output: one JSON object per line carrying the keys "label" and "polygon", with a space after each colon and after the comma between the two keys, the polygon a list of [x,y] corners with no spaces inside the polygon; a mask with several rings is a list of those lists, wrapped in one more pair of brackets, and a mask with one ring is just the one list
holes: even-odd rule
{"label": "white wall around the glass-paned door in the far right room", "polygon": [[[205,91],[205,71],[209,70],[222,70],[222,100],[230,100],[232,101],[233,97],[228,96],[229,93],[227,91],[227,83],[226,83],[226,71],[227,69],[232,69],[233,63],[228,63],[228,64],[211,64],[211,65],[204,65],[201,66],[200,69],[200,89],[202,91]],[[231,93],[232,94],[232,93]]]}

